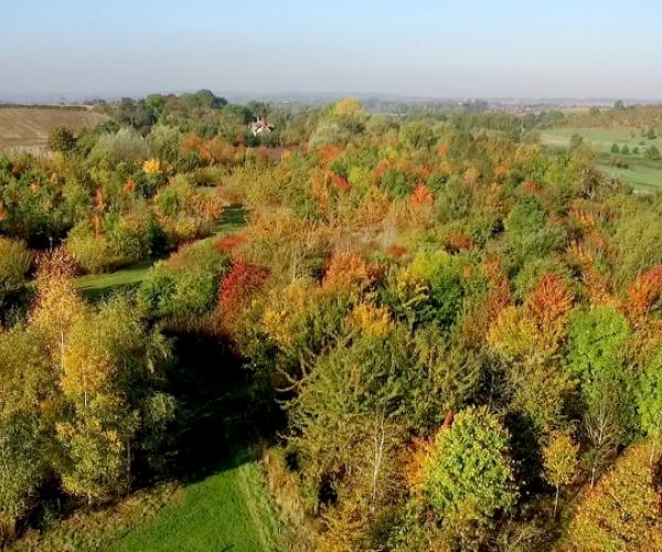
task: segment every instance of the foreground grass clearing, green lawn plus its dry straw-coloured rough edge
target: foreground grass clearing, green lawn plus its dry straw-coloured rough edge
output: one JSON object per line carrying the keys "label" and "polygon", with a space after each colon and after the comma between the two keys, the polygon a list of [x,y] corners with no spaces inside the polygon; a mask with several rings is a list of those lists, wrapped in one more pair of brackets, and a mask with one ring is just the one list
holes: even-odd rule
{"label": "foreground grass clearing, green lawn plus its dry straw-coloured rough edge", "polygon": [[243,453],[218,473],[191,484],[161,484],[100,510],[77,512],[10,550],[157,552],[281,550],[259,465]]}

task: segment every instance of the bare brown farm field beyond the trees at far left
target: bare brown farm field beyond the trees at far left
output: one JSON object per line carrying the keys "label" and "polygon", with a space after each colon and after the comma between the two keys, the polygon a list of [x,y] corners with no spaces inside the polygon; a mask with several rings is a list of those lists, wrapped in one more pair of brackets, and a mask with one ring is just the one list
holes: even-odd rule
{"label": "bare brown farm field beyond the trees at far left", "polygon": [[38,152],[45,147],[49,132],[55,127],[65,126],[77,134],[105,120],[105,115],[88,109],[1,107],[0,150]]}

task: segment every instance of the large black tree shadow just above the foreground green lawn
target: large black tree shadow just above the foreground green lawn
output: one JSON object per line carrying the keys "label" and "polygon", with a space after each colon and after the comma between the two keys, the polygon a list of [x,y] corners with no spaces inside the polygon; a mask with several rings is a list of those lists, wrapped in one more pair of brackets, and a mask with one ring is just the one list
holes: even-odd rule
{"label": "large black tree shadow just above the foreground green lawn", "polygon": [[178,362],[167,391],[178,410],[168,450],[168,476],[194,482],[254,461],[258,443],[275,429],[265,405],[252,394],[249,373],[218,338],[178,335]]}

